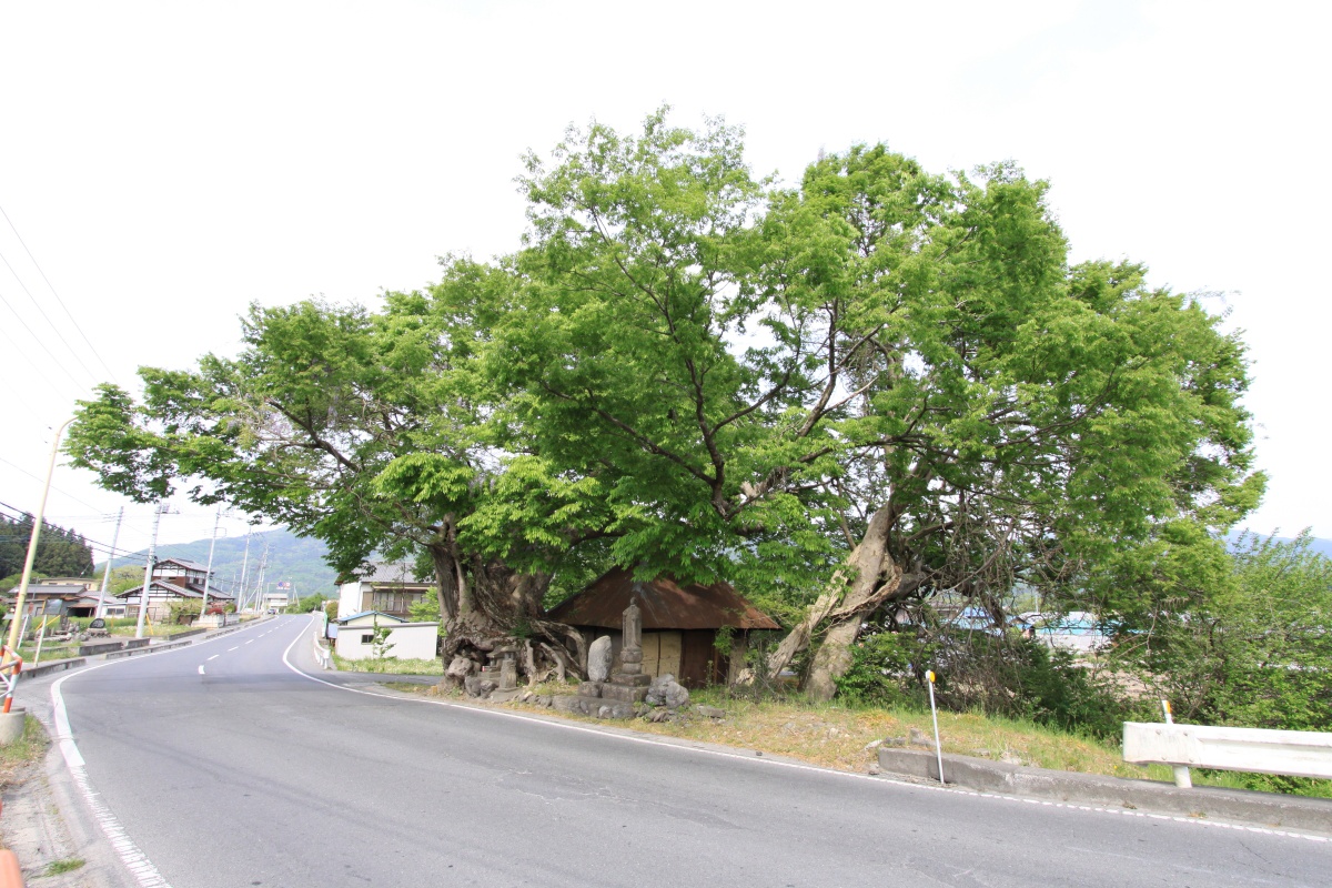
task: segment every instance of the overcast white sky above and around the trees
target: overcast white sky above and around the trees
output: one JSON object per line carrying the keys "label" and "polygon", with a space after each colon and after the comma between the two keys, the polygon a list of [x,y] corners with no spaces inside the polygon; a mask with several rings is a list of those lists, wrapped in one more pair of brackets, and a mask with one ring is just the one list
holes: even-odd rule
{"label": "overcast white sky above and around the trees", "polygon": [[[670,103],[743,125],[755,169],[786,178],[854,141],[935,170],[1014,158],[1052,182],[1075,260],[1224,292],[1271,474],[1248,525],[1332,537],[1329,20],[1313,3],[9,0],[0,206],[109,374],[0,218],[17,273],[0,264],[0,502],[36,510],[52,427],[95,382],[234,353],[250,301],[373,301],[433,280],[441,253],[511,250],[523,150]],[[151,507],[89,473],[57,467],[47,514],[109,543],[121,505],[121,547],[147,546]],[[210,526],[182,503],[161,539]]]}

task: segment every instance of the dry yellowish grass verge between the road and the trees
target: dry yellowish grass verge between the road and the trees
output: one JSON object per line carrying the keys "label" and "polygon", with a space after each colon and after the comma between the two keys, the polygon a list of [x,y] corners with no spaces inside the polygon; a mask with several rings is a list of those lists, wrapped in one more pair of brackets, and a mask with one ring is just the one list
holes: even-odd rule
{"label": "dry yellowish grass verge between the road and the trees", "polygon": [[[437,687],[408,686],[400,690],[438,695]],[[574,694],[571,684],[547,682],[534,694]],[[886,738],[908,738],[911,728],[930,738],[934,748],[934,728],[928,708],[876,708],[840,703],[810,703],[798,696],[779,700],[751,702],[726,694],[725,688],[693,691],[690,703],[705,703],[726,710],[722,722],[694,718],[686,722],[651,723],[633,720],[635,731],[661,734],[699,743],[718,743],[747,750],[761,750],[771,755],[801,759],[811,764],[839,771],[866,772],[878,764],[878,750],[870,744]],[[506,703],[500,706],[531,708],[531,704]],[[542,708],[541,712],[558,718],[597,722],[581,716]],[[939,735],[944,752],[1010,762],[1012,764],[1078,771],[1138,780],[1173,781],[1169,766],[1138,766],[1124,762],[1116,743],[1070,734],[1055,727],[991,718],[976,712],[939,712]],[[918,747],[922,748],[922,747]],[[1192,771],[1196,785],[1227,787],[1232,789],[1261,788],[1292,795],[1332,797],[1332,780],[1264,781],[1264,775],[1245,775],[1228,771]]]}

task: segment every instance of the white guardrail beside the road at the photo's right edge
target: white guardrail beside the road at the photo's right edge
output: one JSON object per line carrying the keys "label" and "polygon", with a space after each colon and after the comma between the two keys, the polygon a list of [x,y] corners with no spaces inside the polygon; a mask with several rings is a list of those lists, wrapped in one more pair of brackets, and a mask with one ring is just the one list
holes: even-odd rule
{"label": "white guardrail beside the road at the photo's right edge", "polygon": [[1332,779],[1332,734],[1124,722],[1124,762]]}

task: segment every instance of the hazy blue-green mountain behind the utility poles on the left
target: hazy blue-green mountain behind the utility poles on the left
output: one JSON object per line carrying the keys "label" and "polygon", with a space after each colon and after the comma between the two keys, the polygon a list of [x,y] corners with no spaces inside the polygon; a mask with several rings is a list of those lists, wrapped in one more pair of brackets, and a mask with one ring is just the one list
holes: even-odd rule
{"label": "hazy blue-green mountain behind the utility poles on the left", "polygon": [[[318,539],[297,537],[286,529],[265,530],[250,534],[249,545],[249,571],[246,584],[253,590],[257,580],[260,559],[268,550],[268,568],[264,571],[264,586],[273,591],[277,582],[292,583],[292,594],[306,595],[320,594],[332,596],[336,594],[334,580],[337,574],[324,562],[328,549]],[[140,571],[148,550],[135,553],[139,559]],[[159,558],[184,558],[200,564],[208,563],[208,539],[196,539],[192,543],[169,543],[157,547]],[[234,592],[240,584],[241,562],[245,559],[244,537],[218,537],[217,549],[213,551],[213,582],[222,591]],[[125,559],[116,559],[116,564],[129,563]],[[101,563],[97,568],[101,570]]]}

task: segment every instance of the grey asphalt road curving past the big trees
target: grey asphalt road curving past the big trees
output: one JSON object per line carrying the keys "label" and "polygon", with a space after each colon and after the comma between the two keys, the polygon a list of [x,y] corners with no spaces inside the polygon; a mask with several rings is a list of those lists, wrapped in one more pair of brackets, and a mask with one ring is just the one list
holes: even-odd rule
{"label": "grey asphalt road curving past the big trees", "polygon": [[280,618],[64,679],[100,821],[163,880],[140,863],[128,884],[1332,884],[1332,843],[1307,837],[334,687],[284,662],[329,675],[309,632]]}

